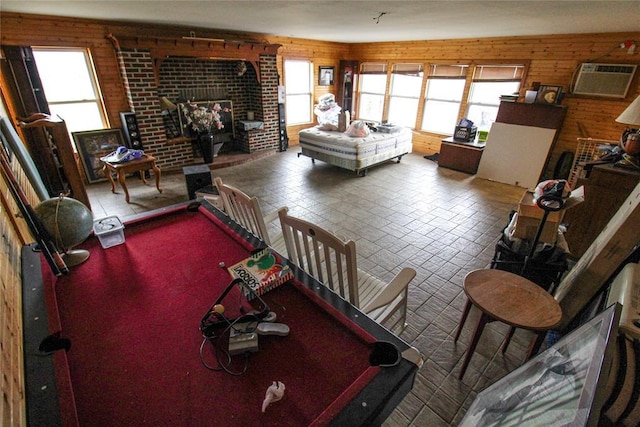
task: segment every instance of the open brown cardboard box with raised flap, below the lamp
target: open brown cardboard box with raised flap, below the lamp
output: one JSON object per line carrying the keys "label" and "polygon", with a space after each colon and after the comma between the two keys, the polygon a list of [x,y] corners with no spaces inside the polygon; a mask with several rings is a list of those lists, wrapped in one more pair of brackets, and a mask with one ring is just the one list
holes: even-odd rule
{"label": "open brown cardboard box with raised flap, below the lamp", "polygon": [[[560,226],[567,209],[571,209],[583,201],[584,188],[579,187],[573,190],[571,195],[565,200],[562,210],[549,212],[539,241],[554,244],[558,237],[558,226]],[[528,190],[525,191],[518,204],[518,216],[512,236],[519,239],[534,240],[544,214],[544,209],[541,209],[533,202],[533,193]]]}

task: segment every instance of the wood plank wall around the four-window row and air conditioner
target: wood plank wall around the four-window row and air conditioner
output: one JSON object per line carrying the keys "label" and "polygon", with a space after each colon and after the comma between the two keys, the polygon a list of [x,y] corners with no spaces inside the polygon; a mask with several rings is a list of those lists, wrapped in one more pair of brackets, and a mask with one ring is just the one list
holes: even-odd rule
{"label": "wood plank wall around the four-window row and air conditioner", "polygon": [[[487,62],[517,63],[530,61],[524,90],[533,82],[563,86],[567,91],[573,73],[582,62],[640,63],[640,52],[628,54],[619,47],[625,40],[640,39],[636,33],[570,34],[485,39],[430,40],[401,43],[354,44],[351,56],[360,61],[402,61],[429,63],[480,64]],[[552,168],[563,151],[574,152],[576,138],[592,137],[617,140],[624,125],[616,123],[618,115],[640,95],[640,71],[625,99],[565,96],[567,117],[549,162]],[[581,134],[580,128],[587,134]],[[437,152],[438,136],[418,132],[414,136],[416,151]],[[547,174],[549,173],[549,168]]]}

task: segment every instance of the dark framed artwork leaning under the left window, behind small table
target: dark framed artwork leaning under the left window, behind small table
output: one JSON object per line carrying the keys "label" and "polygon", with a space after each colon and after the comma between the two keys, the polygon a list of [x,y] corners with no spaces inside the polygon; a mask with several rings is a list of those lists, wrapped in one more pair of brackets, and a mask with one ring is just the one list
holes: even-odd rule
{"label": "dark framed artwork leaning under the left window, behind small table", "polygon": [[122,130],[100,129],[73,132],[72,135],[87,181],[91,184],[106,180],[100,158],[116,151],[120,146],[125,146]]}

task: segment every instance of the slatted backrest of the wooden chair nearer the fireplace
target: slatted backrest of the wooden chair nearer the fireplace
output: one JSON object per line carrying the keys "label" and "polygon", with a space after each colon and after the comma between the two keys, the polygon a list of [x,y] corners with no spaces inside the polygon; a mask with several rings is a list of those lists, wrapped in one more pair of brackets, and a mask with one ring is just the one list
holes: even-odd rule
{"label": "slatted backrest of the wooden chair nearer the fireplace", "polygon": [[249,197],[246,193],[231,185],[223,184],[220,177],[216,177],[214,182],[222,198],[227,215],[262,239],[267,245],[271,245],[258,199]]}

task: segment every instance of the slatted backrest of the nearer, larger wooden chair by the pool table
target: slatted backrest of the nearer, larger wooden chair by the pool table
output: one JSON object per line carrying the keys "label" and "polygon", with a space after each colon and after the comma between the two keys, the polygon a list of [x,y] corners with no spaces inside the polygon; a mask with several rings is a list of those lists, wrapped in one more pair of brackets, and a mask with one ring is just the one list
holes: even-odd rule
{"label": "slatted backrest of the nearer, larger wooden chair by the pool table", "polygon": [[289,260],[360,307],[355,242],[343,242],[315,224],[289,216],[287,211],[282,208],[278,215]]}

